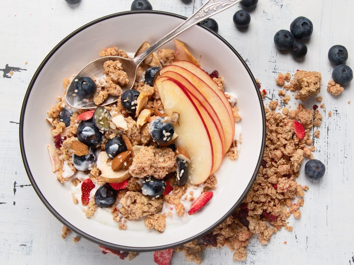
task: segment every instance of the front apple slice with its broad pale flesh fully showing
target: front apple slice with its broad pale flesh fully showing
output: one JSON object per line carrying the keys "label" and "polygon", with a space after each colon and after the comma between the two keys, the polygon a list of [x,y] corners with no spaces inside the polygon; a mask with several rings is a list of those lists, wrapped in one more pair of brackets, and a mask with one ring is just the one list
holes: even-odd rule
{"label": "front apple slice with its broad pale flesh fully showing", "polygon": [[167,115],[172,117],[173,112],[180,115],[179,125],[175,125],[178,134],[176,145],[184,147],[190,155],[189,182],[200,184],[210,176],[213,168],[213,148],[207,126],[188,93],[184,93],[176,83],[164,80],[157,88]]}

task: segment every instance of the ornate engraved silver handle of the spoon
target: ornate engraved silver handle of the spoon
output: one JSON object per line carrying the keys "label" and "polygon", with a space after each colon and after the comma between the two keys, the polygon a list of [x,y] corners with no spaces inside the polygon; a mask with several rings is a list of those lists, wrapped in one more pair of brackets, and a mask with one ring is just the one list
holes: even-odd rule
{"label": "ornate engraved silver handle of the spoon", "polygon": [[166,36],[162,37],[162,39],[155,42],[148,49],[146,49],[143,53],[134,58],[137,64],[140,64],[144,59],[146,59],[150,54],[164,45],[166,42],[169,42],[179,34],[181,34],[186,29],[189,29],[193,25],[207,19],[225,9],[237,4],[241,0],[208,0],[202,5],[192,16],[187,18],[180,24],[177,28],[172,30]]}

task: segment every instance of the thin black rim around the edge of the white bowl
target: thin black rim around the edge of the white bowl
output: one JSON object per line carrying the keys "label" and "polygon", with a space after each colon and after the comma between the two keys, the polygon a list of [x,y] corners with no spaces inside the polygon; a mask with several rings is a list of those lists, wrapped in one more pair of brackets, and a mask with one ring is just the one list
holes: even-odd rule
{"label": "thin black rim around the edge of the white bowl", "polygon": [[76,234],[84,237],[85,239],[96,243],[98,245],[102,245],[104,247],[108,247],[108,248],[112,248],[112,249],[118,249],[120,251],[130,251],[130,252],[149,252],[149,251],[158,251],[158,250],[162,250],[162,249],[168,249],[168,248],[175,248],[178,246],[181,246],[185,243],[188,243],[190,241],[193,241],[197,238],[200,238],[201,236],[204,236],[205,234],[209,233],[211,230],[213,230],[214,228],[216,228],[219,224],[221,224],[225,219],[227,219],[235,210],[236,208],[241,204],[241,202],[244,200],[244,198],[246,197],[247,193],[249,192],[249,190],[251,189],[259,168],[261,167],[262,164],[262,159],[263,159],[263,153],[264,153],[264,148],[265,148],[265,135],[266,135],[266,122],[265,122],[265,111],[264,111],[264,106],[263,106],[263,99],[261,96],[261,92],[259,91],[257,82],[255,80],[255,77],[253,76],[250,68],[247,66],[246,62],[244,61],[244,59],[242,59],[241,55],[234,49],[234,47],[232,45],[230,45],[230,43],[228,43],[223,37],[221,37],[219,34],[217,34],[215,31],[207,28],[204,25],[198,24],[199,27],[202,27],[206,30],[208,30],[210,33],[212,33],[213,35],[215,35],[219,40],[221,40],[229,49],[231,49],[231,51],[233,53],[235,53],[235,55],[239,58],[239,60],[241,61],[241,63],[243,64],[243,66],[245,67],[246,71],[249,73],[252,82],[255,86],[257,95],[258,95],[258,100],[259,100],[259,104],[261,105],[261,111],[262,111],[262,122],[263,122],[263,132],[262,132],[262,146],[261,146],[261,151],[259,153],[258,156],[258,162],[255,168],[255,171],[253,172],[252,178],[249,182],[249,184],[247,185],[245,191],[242,193],[241,197],[236,201],[236,203],[234,204],[234,206],[227,212],[224,214],[224,216],[222,216],[216,223],[214,223],[213,225],[211,225],[208,229],[200,232],[197,235],[194,235],[192,237],[188,237],[185,240],[179,241],[179,242],[175,242],[169,245],[164,245],[164,246],[158,246],[158,247],[126,247],[126,246],[120,246],[120,245],[116,245],[114,243],[110,243],[110,242],[106,242],[103,240],[100,240],[96,237],[93,237],[89,234],[87,234],[84,231],[81,231],[80,229],[76,228],[74,225],[70,224],[67,220],[65,220],[51,205],[50,203],[46,200],[46,198],[44,197],[44,195],[41,193],[41,191],[39,190],[33,175],[31,173],[31,170],[29,168],[28,165],[28,161],[26,158],[26,154],[25,154],[25,148],[24,148],[24,139],[23,139],[23,124],[24,124],[24,116],[25,116],[25,111],[26,111],[26,106],[28,103],[28,98],[29,95],[31,93],[31,90],[34,86],[34,83],[36,82],[37,77],[39,76],[39,73],[42,71],[42,69],[44,68],[44,66],[46,65],[46,63],[48,62],[48,60],[52,57],[53,54],[56,53],[56,51],[65,43],[67,42],[69,39],[71,39],[73,36],[75,36],[76,34],[78,34],[80,31],[91,27],[92,25],[102,22],[104,20],[110,19],[110,18],[114,18],[114,17],[119,17],[119,16],[125,16],[125,15],[130,15],[130,14],[141,14],[141,13],[150,13],[150,14],[161,14],[161,15],[165,15],[165,16],[171,16],[171,17],[176,17],[176,18],[180,18],[180,19],[187,19],[184,16],[178,15],[178,14],[174,14],[174,13],[170,13],[170,12],[165,12],[165,11],[150,11],[150,10],[140,10],[140,11],[125,11],[125,12],[119,12],[119,13],[114,13],[114,14],[110,14],[95,20],[92,20],[91,22],[83,25],[82,27],[76,29],[75,31],[73,31],[72,33],[70,33],[68,36],[66,36],[62,41],[60,41],[49,53],[48,55],[44,58],[44,60],[41,62],[41,64],[39,65],[38,69],[35,71],[32,80],[30,81],[27,91],[25,93],[24,96],[24,100],[23,100],[23,104],[22,104],[22,108],[21,108],[21,115],[20,115],[20,123],[19,123],[19,142],[20,142],[20,149],[21,149],[21,156],[22,156],[22,160],[23,160],[23,164],[25,167],[25,171],[28,175],[29,181],[31,182],[36,194],[38,195],[39,199],[43,202],[43,204],[47,207],[47,209],[65,226],[67,226],[70,230],[74,231]]}

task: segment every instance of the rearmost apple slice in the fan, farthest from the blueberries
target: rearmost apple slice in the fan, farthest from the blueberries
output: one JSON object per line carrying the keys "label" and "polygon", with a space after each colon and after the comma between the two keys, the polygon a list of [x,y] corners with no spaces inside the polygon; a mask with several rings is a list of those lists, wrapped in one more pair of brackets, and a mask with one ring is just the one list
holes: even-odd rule
{"label": "rearmost apple slice in the fan, farthest from the blueberries", "polygon": [[[233,138],[234,134],[235,134],[234,113],[232,111],[230,102],[227,100],[224,92],[218,87],[218,85],[215,83],[213,78],[211,78],[210,75],[208,75],[208,73],[205,72],[203,69],[201,69],[200,67],[196,66],[195,64],[190,63],[189,61],[175,61],[175,62],[172,63],[172,65],[181,66],[181,67],[187,69],[188,71],[192,72],[194,75],[198,76],[202,81],[204,81],[209,87],[211,87],[218,94],[218,96],[223,101],[223,103],[224,103],[224,105],[227,108],[227,111],[229,113],[230,122],[231,122],[232,128],[233,128],[232,129],[232,138]],[[196,87],[198,87],[198,86],[196,86]],[[219,116],[219,118],[221,119],[220,116]],[[222,123],[224,124],[223,121],[222,121]],[[224,128],[224,130],[225,130],[225,128]]]}

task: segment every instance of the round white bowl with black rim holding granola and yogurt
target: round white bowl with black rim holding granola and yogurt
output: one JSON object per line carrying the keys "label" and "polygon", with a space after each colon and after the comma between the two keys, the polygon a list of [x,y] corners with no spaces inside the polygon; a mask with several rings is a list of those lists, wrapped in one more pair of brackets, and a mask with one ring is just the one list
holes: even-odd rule
{"label": "round white bowl with black rim holding granola and yogurt", "polygon": [[[212,200],[190,222],[166,230],[119,230],[85,217],[67,189],[51,171],[47,144],[53,143],[47,111],[62,93],[62,81],[98,58],[102,48],[116,46],[135,52],[144,41],[154,43],[180,24],[184,17],[158,11],[124,12],[97,19],[62,40],[44,59],[29,84],[23,101],[20,143],[25,169],[45,206],[64,225],[99,245],[125,251],[155,251],[199,238],[225,220],[245,198],[261,165],[265,114],[255,79],[235,49],[204,26],[194,26],[177,37],[203,69],[218,70],[225,90],[238,98],[242,116],[242,146],[235,162],[225,158],[216,172],[218,185]],[[158,30],[156,30],[158,28]],[[158,31],[158,34],[152,32]],[[174,48],[173,42],[164,47]],[[33,118],[35,117],[35,118]],[[33,138],[36,135],[36,138]]]}

